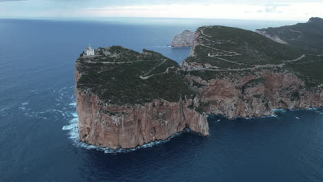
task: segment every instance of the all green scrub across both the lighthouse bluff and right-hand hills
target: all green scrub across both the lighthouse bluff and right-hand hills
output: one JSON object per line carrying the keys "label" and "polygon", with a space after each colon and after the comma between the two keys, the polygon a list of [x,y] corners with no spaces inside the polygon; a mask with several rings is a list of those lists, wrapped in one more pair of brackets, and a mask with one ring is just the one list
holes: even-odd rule
{"label": "all green scrub across both the lighthouse bluff and right-hand hills", "polygon": [[[313,30],[309,32],[313,32],[314,28],[320,28],[321,25],[317,24],[316,19],[304,24],[306,26],[311,24]],[[313,43],[315,45],[306,43],[305,38],[304,40],[300,38],[295,39],[295,43],[291,41],[293,46],[280,44],[255,32],[239,28],[209,26],[199,28],[197,31],[200,33],[197,37],[199,44],[195,46],[195,54],[185,60],[193,70],[181,70],[175,61],[151,50],[143,50],[139,53],[120,46],[99,48],[96,50],[95,57],[80,57],[77,60],[77,70],[81,74],[77,88],[97,94],[99,99],[107,103],[133,105],[148,103],[153,99],[177,102],[183,97],[193,98],[196,93],[186,85],[184,80],[186,75],[208,81],[210,79],[233,80],[248,75],[260,77],[262,70],[288,71],[304,80],[306,88],[316,88],[317,85],[323,84],[323,57],[318,55],[320,52],[317,53],[317,50],[303,49],[305,46],[323,48],[323,37],[320,37],[320,34],[323,34],[322,31],[311,35],[317,37],[318,41],[315,41],[316,44]],[[297,29],[297,31],[304,31],[304,34],[306,32],[304,29]],[[291,36],[288,39],[292,39],[292,35],[288,35]],[[306,38],[307,41],[313,39]],[[283,40],[287,41],[287,38]],[[300,45],[302,43],[304,43],[303,47]],[[306,57],[301,57],[303,54],[306,54]],[[244,92],[247,88],[262,83],[264,79],[260,77],[239,86],[239,89]],[[194,81],[192,85],[195,89],[205,86]],[[291,99],[297,101],[301,96],[300,92],[293,92]],[[263,96],[255,94],[254,97]],[[266,106],[269,107],[268,103]],[[203,104],[197,108],[193,105],[189,106],[197,112],[203,112],[203,108],[207,107]],[[101,112],[107,112],[110,115],[118,114],[104,110]]]}

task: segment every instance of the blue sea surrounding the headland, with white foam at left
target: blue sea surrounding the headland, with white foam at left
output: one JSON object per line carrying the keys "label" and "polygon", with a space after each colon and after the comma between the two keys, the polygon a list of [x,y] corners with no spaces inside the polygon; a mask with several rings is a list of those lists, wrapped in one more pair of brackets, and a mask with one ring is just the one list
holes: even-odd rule
{"label": "blue sea surrounding the headland, with white foam at left", "polygon": [[323,181],[323,109],[264,118],[208,117],[210,136],[182,132],[137,150],[77,141],[75,60],[93,47],[155,50],[203,25],[247,30],[286,21],[0,19],[0,181]]}

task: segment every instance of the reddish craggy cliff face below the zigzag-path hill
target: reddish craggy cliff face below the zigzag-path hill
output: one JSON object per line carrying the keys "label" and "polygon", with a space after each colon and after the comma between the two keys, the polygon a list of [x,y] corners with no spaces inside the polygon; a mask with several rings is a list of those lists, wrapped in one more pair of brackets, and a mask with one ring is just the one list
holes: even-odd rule
{"label": "reddish craggy cliff face below the zigzag-path hill", "polygon": [[306,90],[304,82],[292,73],[262,70],[257,74],[235,79],[211,79],[187,76],[193,83],[202,85],[200,101],[208,114],[233,117],[262,117],[273,114],[277,108],[323,106],[323,90]]}

